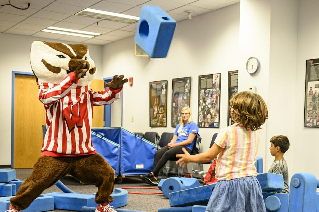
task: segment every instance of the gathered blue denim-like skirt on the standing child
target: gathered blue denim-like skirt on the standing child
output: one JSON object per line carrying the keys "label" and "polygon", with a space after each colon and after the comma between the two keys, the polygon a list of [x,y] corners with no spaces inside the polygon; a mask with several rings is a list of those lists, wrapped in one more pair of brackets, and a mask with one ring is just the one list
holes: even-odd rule
{"label": "gathered blue denim-like skirt on the standing child", "polygon": [[260,184],[255,176],[218,181],[206,212],[266,212]]}

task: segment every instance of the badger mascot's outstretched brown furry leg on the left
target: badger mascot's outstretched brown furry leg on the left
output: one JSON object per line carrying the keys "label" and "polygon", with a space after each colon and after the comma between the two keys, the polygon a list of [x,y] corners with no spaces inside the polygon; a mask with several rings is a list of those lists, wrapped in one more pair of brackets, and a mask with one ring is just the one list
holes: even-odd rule
{"label": "badger mascot's outstretched brown furry leg on the left", "polygon": [[10,199],[16,210],[26,209],[46,188],[68,173],[69,164],[62,158],[40,157],[31,175],[22,183],[15,197]]}

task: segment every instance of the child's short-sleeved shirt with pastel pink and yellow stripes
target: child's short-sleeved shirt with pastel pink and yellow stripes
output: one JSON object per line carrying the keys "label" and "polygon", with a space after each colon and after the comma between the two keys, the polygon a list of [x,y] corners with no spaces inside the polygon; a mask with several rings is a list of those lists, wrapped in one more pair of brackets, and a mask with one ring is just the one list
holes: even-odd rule
{"label": "child's short-sleeved shirt with pastel pink and yellow stripes", "polygon": [[256,176],[259,141],[259,131],[246,130],[242,124],[222,129],[215,139],[215,143],[224,148],[217,158],[216,179],[220,181]]}

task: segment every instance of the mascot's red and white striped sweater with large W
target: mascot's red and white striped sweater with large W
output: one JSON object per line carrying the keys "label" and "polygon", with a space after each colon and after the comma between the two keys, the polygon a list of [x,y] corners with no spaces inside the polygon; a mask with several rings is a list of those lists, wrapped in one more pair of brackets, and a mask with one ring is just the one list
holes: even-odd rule
{"label": "mascot's red and white striped sweater with large W", "polygon": [[57,85],[38,82],[39,100],[47,112],[41,156],[96,153],[91,139],[93,105],[111,104],[122,88],[94,92],[87,85],[78,86],[78,81],[71,72]]}

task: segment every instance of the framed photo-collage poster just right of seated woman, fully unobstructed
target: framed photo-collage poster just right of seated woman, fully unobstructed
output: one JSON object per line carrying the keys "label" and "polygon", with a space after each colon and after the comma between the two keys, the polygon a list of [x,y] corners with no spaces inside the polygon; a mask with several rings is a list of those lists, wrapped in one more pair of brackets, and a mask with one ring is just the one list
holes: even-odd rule
{"label": "framed photo-collage poster just right of seated woman, fully unobstructed", "polygon": [[219,127],[220,76],[198,76],[198,127]]}

